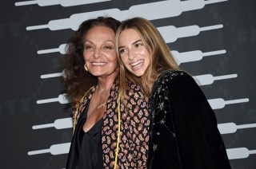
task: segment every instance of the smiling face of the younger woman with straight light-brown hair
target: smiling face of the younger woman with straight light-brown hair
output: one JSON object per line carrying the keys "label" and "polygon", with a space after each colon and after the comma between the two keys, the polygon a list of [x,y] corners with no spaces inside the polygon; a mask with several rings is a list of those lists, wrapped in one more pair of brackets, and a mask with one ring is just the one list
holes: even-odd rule
{"label": "smiling face of the younger woman with straight light-brown hair", "polygon": [[125,29],[119,34],[118,53],[126,69],[137,77],[142,77],[150,65],[150,53],[135,29]]}

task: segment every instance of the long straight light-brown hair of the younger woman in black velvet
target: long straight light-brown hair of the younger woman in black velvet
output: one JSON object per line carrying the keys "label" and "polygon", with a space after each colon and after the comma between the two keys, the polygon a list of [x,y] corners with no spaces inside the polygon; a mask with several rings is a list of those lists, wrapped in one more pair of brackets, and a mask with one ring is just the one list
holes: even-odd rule
{"label": "long straight light-brown hair of the younger woman in black velvet", "polygon": [[[136,77],[130,73],[122,63],[118,52],[118,38],[120,33],[125,29],[134,29],[142,38],[142,43],[150,53],[150,65],[146,69],[142,77]],[[127,81],[134,81],[140,85],[146,100],[150,97],[152,85],[158,76],[169,69],[179,69],[174,57],[170,53],[170,49],[166,41],[162,38],[158,29],[145,18],[130,18],[121,23],[116,33],[115,49],[118,53],[118,62],[120,67],[120,92],[124,96],[128,89]],[[123,98],[122,98],[123,100]]]}

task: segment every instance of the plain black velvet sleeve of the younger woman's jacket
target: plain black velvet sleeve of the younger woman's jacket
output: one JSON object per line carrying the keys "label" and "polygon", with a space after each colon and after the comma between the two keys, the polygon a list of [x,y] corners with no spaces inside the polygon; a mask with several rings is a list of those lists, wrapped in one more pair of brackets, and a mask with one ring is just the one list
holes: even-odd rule
{"label": "plain black velvet sleeve of the younger woman's jacket", "polygon": [[193,77],[183,73],[168,84],[178,154],[183,169],[230,168],[214,111]]}

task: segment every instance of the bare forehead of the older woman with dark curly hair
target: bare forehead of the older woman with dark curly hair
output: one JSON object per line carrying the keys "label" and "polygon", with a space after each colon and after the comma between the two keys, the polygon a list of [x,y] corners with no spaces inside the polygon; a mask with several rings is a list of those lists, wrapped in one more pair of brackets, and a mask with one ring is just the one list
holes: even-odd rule
{"label": "bare forehead of the older woman with dark curly hair", "polygon": [[86,41],[110,40],[114,41],[114,30],[106,26],[94,26],[85,35]]}

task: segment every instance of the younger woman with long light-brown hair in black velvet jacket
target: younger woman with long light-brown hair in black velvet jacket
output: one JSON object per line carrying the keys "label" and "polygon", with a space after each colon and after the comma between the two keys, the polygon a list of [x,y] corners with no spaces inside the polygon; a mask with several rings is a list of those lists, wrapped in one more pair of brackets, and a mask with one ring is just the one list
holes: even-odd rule
{"label": "younger woman with long light-brown hair in black velvet jacket", "polygon": [[214,111],[194,79],[179,70],[154,25],[128,19],[119,26],[116,41],[120,92],[128,88],[126,81],[134,81],[149,99],[148,167],[229,169]]}

